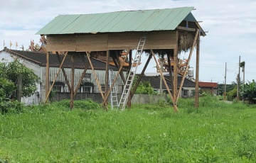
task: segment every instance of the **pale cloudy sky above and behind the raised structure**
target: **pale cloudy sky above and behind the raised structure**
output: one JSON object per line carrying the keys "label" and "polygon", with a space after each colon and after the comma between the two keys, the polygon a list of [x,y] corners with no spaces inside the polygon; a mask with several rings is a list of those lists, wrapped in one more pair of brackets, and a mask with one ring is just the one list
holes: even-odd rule
{"label": "pale cloudy sky above and behind the raised structure", "polygon": [[[239,57],[245,62],[245,82],[256,78],[256,16],[255,0],[9,0],[2,2],[0,11],[0,50],[5,46],[21,50],[28,49],[30,41],[39,43],[38,30],[60,14],[106,13],[146,9],[171,9],[193,6],[191,11],[204,31],[201,37],[199,80],[223,84],[236,82]],[[18,47],[16,47],[16,42]],[[181,59],[189,52],[182,53]],[[141,71],[146,62],[142,57]],[[196,50],[193,50],[190,66],[196,72]],[[156,72],[151,60],[147,73]],[[242,70],[240,70],[242,79]]]}

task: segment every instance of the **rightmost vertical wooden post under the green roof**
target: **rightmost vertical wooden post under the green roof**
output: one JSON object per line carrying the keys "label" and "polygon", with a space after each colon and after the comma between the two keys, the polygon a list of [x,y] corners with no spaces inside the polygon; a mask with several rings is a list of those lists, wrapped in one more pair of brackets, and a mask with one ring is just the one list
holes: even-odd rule
{"label": "rightmost vertical wooden post under the green roof", "polygon": [[196,95],[195,95],[195,107],[199,106],[199,57],[200,57],[200,33],[198,34],[198,40],[196,43]]}

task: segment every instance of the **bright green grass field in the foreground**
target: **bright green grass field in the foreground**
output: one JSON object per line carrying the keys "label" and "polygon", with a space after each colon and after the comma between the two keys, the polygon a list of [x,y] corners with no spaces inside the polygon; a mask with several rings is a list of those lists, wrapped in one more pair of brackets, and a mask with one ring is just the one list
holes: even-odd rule
{"label": "bright green grass field in the foreground", "polygon": [[212,97],[200,105],[116,112],[60,102],[0,114],[0,162],[256,162],[256,107]]}

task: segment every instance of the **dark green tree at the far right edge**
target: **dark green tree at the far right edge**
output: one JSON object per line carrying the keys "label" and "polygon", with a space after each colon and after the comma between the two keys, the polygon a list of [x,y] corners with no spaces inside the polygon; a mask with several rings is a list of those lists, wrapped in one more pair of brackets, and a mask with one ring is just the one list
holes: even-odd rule
{"label": "dark green tree at the far right edge", "polygon": [[256,82],[252,80],[252,82],[248,81],[248,83],[243,84],[244,91],[241,92],[241,96],[243,96],[246,100],[249,101],[250,104],[256,103]]}

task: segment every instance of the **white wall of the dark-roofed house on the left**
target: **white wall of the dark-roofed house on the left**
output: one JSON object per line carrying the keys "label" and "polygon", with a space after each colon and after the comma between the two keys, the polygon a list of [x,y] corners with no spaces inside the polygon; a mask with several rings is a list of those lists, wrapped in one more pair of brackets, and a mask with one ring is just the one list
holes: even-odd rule
{"label": "white wall of the dark-roofed house on the left", "polygon": [[[6,62],[14,61],[15,56],[14,57],[13,56],[14,55],[10,55],[8,52],[1,52],[0,53],[0,59],[4,58],[6,60]],[[46,99],[46,67],[40,67],[37,64],[33,64],[32,62],[28,62],[27,60],[21,60],[21,62],[26,67],[28,67],[29,69],[33,69],[33,72],[38,77],[40,77],[40,81],[37,84],[37,89],[35,91],[35,94],[33,94],[30,97],[26,97],[26,98],[23,97],[21,99],[21,101],[23,103],[26,103],[26,104],[29,104],[29,105],[37,104],[37,103],[40,103],[41,101],[45,101],[45,99]],[[58,69],[59,69],[59,67],[50,67],[50,72],[49,72],[50,73],[49,74],[50,82],[55,79],[55,76],[58,72]],[[64,69],[65,69],[65,72],[68,76],[68,80],[70,81],[70,79],[71,79],[71,69],[70,68],[64,68]],[[79,81],[83,71],[84,71],[84,69],[75,69],[75,83],[74,83],[75,88],[78,84],[78,81]],[[97,83],[96,83],[95,77],[92,73],[92,70],[87,69],[86,73],[91,74],[91,82],[94,85],[93,86],[94,87],[93,93],[100,93],[100,89],[97,86]],[[100,84],[105,86],[105,70],[95,70],[95,73],[97,75],[97,79],[99,80]],[[114,77],[115,77],[116,74],[117,74],[117,71],[114,71],[113,73],[114,73]],[[126,76],[126,72],[124,72],[124,77],[125,76]],[[63,82],[65,84],[63,86],[63,89],[62,89],[63,92],[69,92],[68,84],[66,84],[66,82],[65,82],[65,78],[63,76],[62,70],[60,70],[56,81]],[[116,83],[115,83],[115,86],[117,88],[117,93],[119,93],[119,94],[122,94],[122,85],[124,85],[124,84],[122,82],[121,77],[119,76],[117,78]]]}

